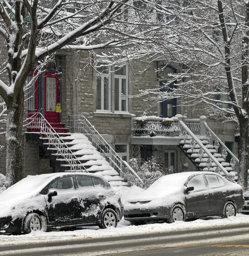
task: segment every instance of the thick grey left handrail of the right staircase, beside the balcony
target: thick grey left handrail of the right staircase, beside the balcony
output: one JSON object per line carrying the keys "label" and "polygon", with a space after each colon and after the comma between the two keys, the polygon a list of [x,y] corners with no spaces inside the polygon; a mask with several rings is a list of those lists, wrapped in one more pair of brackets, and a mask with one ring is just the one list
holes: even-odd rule
{"label": "thick grey left handrail of the right staircase, beside the balcony", "polygon": [[209,150],[203,145],[203,143],[195,136],[195,134],[187,127],[187,125],[183,121],[179,121],[179,124],[185,130],[187,134],[197,143],[200,148],[209,156],[209,158],[218,166],[218,168],[226,175],[226,177],[231,181],[235,182],[235,174],[234,172],[227,172],[226,169],[220,164],[220,162],[209,152]]}

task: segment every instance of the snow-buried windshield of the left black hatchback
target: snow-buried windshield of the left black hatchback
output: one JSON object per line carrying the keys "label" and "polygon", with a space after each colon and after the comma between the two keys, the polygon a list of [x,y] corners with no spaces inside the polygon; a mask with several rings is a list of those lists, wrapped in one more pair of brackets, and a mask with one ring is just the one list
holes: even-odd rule
{"label": "snow-buried windshield of the left black hatchback", "polygon": [[51,175],[28,176],[6,189],[3,194],[5,196],[26,193],[37,194],[46,186],[49,180],[51,180]]}

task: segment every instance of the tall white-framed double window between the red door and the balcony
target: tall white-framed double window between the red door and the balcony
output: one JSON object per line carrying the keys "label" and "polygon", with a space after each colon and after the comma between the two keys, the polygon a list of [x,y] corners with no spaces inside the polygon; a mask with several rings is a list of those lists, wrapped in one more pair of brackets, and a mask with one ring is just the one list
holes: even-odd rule
{"label": "tall white-framed double window between the red door and the balcony", "polygon": [[[107,63],[99,62],[97,72],[96,110],[128,112],[127,65],[120,64],[111,67]],[[112,102],[114,104],[111,104]]]}

